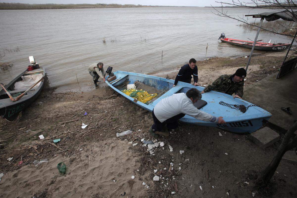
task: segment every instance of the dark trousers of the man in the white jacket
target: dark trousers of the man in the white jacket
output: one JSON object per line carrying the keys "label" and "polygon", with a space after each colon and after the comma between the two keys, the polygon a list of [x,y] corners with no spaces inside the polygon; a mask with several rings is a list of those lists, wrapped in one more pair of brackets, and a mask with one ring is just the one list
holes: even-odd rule
{"label": "dark trousers of the man in the white jacket", "polygon": [[175,116],[173,116],[171,118],[168,118],[164,122],[160,122],[158,120],[158,118],[155,116],[154,110],[153,110],[153,112],[151,114],[153,115],[153,120],[154,120],[154,124],[151,126],[151,128],[154,131],[162,131],[165,124],[167,124],[168,130],[175,129],[176,127],[178,127],[178,120],[185,116],[185,114],[180,113],[180,114],[175,115]]}

